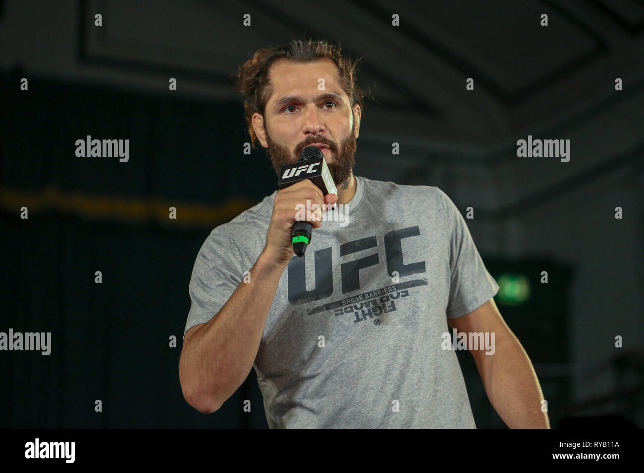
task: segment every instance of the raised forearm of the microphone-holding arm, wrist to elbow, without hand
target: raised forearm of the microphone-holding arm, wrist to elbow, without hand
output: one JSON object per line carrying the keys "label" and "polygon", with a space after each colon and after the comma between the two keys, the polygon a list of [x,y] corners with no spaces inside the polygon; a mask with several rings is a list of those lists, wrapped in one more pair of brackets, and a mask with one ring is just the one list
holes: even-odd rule
{"label": "raised forearm of the microphone-holding arm, wrist to elbow, without hand", "polygon": [[251,371],[283,270],[260,255],[249,283],[242,281],[213,319],[184,344],[180,382],[189,393],[186,399],[200,411],[218,409]]}

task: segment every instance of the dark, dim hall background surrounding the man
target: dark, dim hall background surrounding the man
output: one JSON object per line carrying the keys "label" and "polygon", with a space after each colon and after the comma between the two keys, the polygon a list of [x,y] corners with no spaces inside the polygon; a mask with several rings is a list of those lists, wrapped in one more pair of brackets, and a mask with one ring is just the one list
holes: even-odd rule
{"label": "dark, dim hall background surrounding the man", "polygon": [[[276,189],[267,155],[242,153],[227,77],[258,48],[309,36],[363,57],[375,102],[355,174],[475,209],[468,227],[551,425],[642,427],[644,2],[300,5],[0,1],[0,331],[52,332],[49,356],[0,352],[0,427],[267,427],[254,370],[205,415],[182,396],[178,360],[200,246]],[[129,138],[129,162],[77,158],[88,134]],[[571,139],[571,161],[518,158],[528,134]],[[513,301],[521,278],[529,297]],[[477,427],[505,428],[457,355]]]}

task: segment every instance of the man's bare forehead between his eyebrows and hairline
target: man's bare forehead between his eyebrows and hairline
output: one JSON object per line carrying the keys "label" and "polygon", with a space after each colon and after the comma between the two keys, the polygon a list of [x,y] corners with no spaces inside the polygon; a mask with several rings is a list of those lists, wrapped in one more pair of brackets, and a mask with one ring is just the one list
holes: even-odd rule
{"label": "man's bare forehead between his eyebrows and hairline", "polygon": [[285,59],[278,60],[269,71],[269,79],[273,87],[269,102],[275,102],[286,94],[316,94],[320,78],[325,80],[327,91],[334,90],[345,95],[345,91],[340,86],[336,63],[331,59],[320,59],[307,64],[298,64]]}

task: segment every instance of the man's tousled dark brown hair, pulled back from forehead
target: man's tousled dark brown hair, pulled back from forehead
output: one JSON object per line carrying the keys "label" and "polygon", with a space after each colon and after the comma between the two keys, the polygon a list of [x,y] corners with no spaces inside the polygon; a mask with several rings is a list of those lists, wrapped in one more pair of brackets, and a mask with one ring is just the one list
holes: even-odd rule
{"label": "man's tousled dark brown hair, pulled back from forehead", "polygon": [[352,61],[350,57],[343,55],[340,43],[336,47],[327,41],[291,39],[290,43],[284,46],[257,50],[251,59],[239,67],[237,73],[229,77],[232,87],[245,95],[243,106],[252,147],[256,147],[257,136],[251,118],[254,113],[264,116],[266,102],[274,92],[269,82],[270,66],[278,59],[289,59],[300,64],[331,59],[336,63],[340,85],[350,98],[351,107],[358,104],[362,109],[365,106],[365,98],[371,97],[368,89],[361,89],[356,84],[355,73],[361,59]]}

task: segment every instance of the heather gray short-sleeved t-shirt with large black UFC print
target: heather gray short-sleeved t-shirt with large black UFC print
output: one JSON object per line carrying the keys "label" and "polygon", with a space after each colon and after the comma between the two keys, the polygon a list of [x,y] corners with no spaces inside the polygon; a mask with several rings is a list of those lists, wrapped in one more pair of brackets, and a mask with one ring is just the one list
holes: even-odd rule
{"label": "heather gray short-sleeved t-shirt with large black UFC print", "polygon": [[[269,427],[475,429],[441,335],[498,284],[438,187],[355,178],[354,197],[324,214],[279,279],[253,365]],[[205,240],[185,331],[210,320],[256,262],[276,193]]]}

